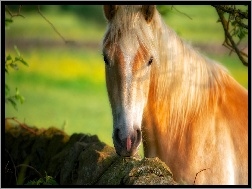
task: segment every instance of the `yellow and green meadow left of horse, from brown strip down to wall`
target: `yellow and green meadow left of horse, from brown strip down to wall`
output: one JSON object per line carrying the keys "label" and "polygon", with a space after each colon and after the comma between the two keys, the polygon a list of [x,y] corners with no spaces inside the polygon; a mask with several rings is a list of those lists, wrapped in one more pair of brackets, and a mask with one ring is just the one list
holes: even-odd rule
{"label": "yellow and green meadow left of horse, from brown strip down to wall", "polygon": [[10,86],[18,86],[26,101],[18,106],[18,112],[8,105],[5,116],[17,117],[39,128],[54,126],[68,134],[97,134],[112,145],[104,64],[98,53],[86,53],[27,53],[29,67],[20,66],[19,71],[11,71],[5,77]]}

